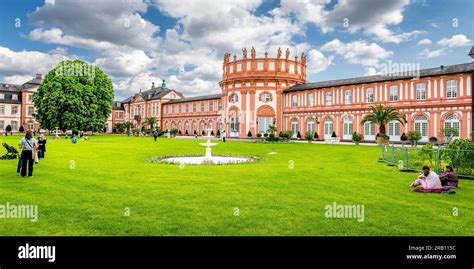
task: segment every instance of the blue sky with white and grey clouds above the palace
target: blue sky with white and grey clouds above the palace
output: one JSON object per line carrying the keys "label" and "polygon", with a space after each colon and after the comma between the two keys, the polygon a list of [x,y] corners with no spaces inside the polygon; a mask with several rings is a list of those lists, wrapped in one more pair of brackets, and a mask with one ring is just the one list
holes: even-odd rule
{"label": "blue sky with white and grey clouds above the palace", "polygon": [[[222,58],[255,46],[308,55],[313,81],[470,62],[474,1],[0,1],[0,81],[22,83],[63,59],[99,66],[124,99],[167,80],[219,92]],[[345,23],[345,24],[344,24]]]}

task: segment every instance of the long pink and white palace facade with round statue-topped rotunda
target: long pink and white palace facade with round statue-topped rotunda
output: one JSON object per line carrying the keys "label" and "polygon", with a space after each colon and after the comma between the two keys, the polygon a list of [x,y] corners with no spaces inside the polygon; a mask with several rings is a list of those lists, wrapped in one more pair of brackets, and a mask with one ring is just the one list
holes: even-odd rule
{"label": "long pink and white palace facade with round statue-topped rotunda", "polygon": [[[469,56],[474,58],[474,47]],[[161,87],[139,93],[119,102],[115,112],[121,121],[140,127],[148,116],[156,117],[162,129],[178,129],[182,135],[201,134],[211,128],[225,130],[228,137],[247,138],[268,130],[317,132],[320,139],[334,131],[340,140],[350,141],[353,132],[364,141],[374,141],[378,126],[360,124],[370,107],[383,104],[397,108],[406,123],[390,122],[391,141],[400,141],[402,133],[417,130],[421,142],[441,130],[452,127],[459,137],[472,139],[474,62],[419,70],[417,76],[376,75],[308,83],[306,55],[290,55],[289,50],[276,57],[257,58],[242,50],[242,57],[225,54],[221,92],[185,98],[173,89]],[[138,107],[138,108],[137,108]]]}

